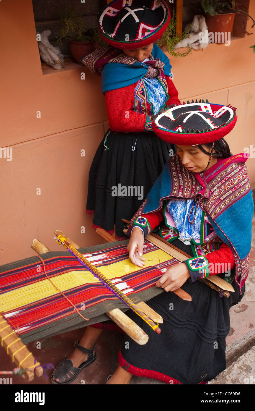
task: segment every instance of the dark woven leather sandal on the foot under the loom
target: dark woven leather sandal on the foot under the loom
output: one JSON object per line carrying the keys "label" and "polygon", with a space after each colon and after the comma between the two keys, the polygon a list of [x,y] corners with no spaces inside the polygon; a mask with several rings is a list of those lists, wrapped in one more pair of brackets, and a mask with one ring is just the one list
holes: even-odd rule
{"label": "dark woven leather sandal on the foot under the loom", "polygon": [[[88,365],[90,365],[96,360],[96,353],[95,355],[93,355],[93,350],[96,344],[94,344],[93,348],[89,350],[87,348],[80,346],[79,342],[80,341],[75,342],[74,346],[75,348],[78,348],[80,351],[89,354],[87,361],[82,363],[80,367],[76,368],[73,366],[73,362],[71,360],[68,360],[67,357],[65,357],[64,360],[57,365],[52,374],[55,380],[58,379],[59,382],[53,380],[51,376],[50,381],[52,384],[63,385],[71,383],[80,374],[83,368],[88,367]],[[70,378],[68,378],[68,375],[70,375]],[[71,375],[73,376],[71,377]]]}

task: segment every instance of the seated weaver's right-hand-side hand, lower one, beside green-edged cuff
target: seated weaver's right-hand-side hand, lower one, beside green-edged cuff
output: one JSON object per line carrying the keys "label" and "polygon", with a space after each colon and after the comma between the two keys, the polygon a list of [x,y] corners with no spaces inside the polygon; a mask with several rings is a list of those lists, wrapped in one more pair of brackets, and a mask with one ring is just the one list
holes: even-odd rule
{"label": "seated weaver's right-hand-side hand, lower one, beside green-edged cuff", "polygon": [[161,278],[156,282],[157,287],[165,291],[175,291],[180,288],[190,277],[189,270],[184,263],[175,264],[168,268]]}

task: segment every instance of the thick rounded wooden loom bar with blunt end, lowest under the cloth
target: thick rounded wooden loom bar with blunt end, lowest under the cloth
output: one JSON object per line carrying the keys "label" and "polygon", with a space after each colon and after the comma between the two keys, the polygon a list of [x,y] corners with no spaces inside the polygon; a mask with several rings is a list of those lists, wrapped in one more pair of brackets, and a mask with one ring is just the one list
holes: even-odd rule
{"label": "thick rounded wooden loom bar with blunt end, lowest under the cloth", "polygon": [[[62,231],[59,231],[62,233]],[[65,237],[65,234],[63,234]],[[70,238],[70,244],[76,245],[80,248],[75,242],[73,242]],[[41,252],[44,249],[44,245],[37,240],[36,246],[34,251],[38,254],[43,254]],[[50,251],[50,250],[49,250]],[[112,321],[114,321],[130,338],[132,338],[137,344],[144,345],[148,342],[148,334],[144,332],[134,321],[132,321],[125,313],[123,313],[120,309],[115,308],[110,310],[109,312],[105,313]]]}

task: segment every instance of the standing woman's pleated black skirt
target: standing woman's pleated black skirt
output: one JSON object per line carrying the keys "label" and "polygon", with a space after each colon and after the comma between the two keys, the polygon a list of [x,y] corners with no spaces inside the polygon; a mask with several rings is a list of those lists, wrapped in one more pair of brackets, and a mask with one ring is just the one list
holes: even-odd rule
{"label": "standing woman's pleated black skirt", "polygon": [[168,161],[169,153],[175,153],[174,146],[153,132],[108,130],[89,171],[86,212],[94,214],[93,227],[113,233],[115,225],[116,239],[125,239],[122,219],[130,220],[137,212]]}

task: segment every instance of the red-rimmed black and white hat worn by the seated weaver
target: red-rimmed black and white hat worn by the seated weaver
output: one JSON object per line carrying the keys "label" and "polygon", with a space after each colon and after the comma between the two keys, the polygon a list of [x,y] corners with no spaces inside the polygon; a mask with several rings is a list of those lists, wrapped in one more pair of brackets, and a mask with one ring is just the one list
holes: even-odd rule
{"label": "red-rimmed black and white hat worn by the seated weaver", "polygon": [[180,145],[212,143],[226,136],[237,121],[236,107],[192,100],[159,114],[153,130],[160,139]]}

